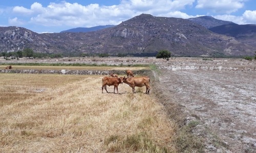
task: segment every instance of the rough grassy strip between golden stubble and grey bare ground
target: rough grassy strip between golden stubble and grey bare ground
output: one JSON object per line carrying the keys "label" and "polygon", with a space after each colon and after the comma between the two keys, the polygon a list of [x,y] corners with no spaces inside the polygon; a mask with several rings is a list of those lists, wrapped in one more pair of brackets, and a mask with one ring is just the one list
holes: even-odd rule
{"label": "rough grassy strip between golden stubble and grey bare ground", "polygon": [[[194,135],[192,130],[200,122],[197,120],[190,121],[188,124],[186,122],[186,113],[184,112],[184,107],[176,104],[170,95],[166,95],[162,91],[162,87],[158,82],[153,83],[154,91],[152,92],[162,105],[164,105],[165,110],[172,122],[176,123],[175,127],[175,138],[173,143],[177,149],[177,152],[204,152],[204,143],[201,138]],[[196,115],[193,115],[199,118]]]}

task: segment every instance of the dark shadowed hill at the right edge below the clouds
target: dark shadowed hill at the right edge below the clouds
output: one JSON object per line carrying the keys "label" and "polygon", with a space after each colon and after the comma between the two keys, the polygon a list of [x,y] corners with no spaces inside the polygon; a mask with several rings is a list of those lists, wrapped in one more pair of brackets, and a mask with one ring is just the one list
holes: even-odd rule
{"label": "dark shadowed hill at the right edge below the clouds", "polygon": [[235,24],[229,23],[209,29],[212,32],[231,36],[237,40],[256,47],[256,24]]}

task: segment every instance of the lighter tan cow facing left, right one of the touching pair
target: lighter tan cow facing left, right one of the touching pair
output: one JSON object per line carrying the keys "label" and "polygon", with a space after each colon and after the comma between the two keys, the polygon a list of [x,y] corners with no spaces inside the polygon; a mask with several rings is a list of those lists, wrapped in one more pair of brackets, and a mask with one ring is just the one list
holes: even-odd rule
{"label": "lighter tan cow facing left, right one of the touching pair", "polygon": [[123,83],[132,87],[133,93],[134,93],[135,87],[146,86],[146,94],[150,94],[150,78],[148,77],[131,77],[131,78],[124,77]]}

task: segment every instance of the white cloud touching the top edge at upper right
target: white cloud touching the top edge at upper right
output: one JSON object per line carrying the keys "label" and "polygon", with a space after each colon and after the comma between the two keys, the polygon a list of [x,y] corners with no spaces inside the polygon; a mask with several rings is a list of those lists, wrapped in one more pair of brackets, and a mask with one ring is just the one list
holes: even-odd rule
{"label": "white cloud touching the top edge at upper right", "polygon": [[244,7],[244,3],[247,0],[198,0],[196,8],[207,9],[216,13],[227,13],[236,12],[238,9]]}

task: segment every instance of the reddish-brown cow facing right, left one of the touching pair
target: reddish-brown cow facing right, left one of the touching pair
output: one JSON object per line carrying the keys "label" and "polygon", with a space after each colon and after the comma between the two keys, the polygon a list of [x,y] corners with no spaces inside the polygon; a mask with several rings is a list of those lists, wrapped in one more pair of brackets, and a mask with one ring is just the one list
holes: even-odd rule
{"label": "reddish-brown cow facing right, left one of the touching pair", "polygon": [[[106,85],[114,86],[114,93],[115,93],[115,89],[116,89],[117,94],[118,94],[118,85],[122,84],[122,83],[123,83],[123,78],[122,77],[120,77],[120,78],[104,77],[104,78],[102,78],[101,91],[103,93],[103,88],[105,88],[105,90],[106,90]],[[106,92],[109,93],[108,90],[106,90]]]}

